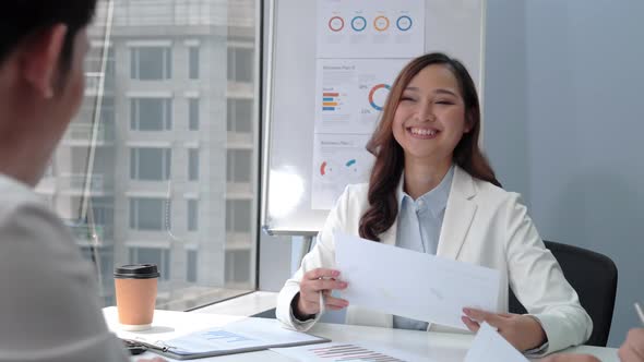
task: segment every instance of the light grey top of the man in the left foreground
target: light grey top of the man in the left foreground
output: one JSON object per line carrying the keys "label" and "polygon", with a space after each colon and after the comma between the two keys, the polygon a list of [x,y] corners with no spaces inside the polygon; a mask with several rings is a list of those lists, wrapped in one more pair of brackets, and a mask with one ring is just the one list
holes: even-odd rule
{"label": "light grey top of the man in the left foreground", "polygon": [[0,362],[129,361],[91,265],[25,184],[0,173]]}

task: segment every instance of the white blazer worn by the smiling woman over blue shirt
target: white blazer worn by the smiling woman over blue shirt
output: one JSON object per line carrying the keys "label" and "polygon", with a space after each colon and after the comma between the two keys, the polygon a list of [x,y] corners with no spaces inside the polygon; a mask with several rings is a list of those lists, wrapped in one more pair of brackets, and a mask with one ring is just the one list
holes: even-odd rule
{"label": "white blazer worn by the smiling woman over blue shirt", "polygon": [[[299,292],[305,273],[335,267],[335,231],[359,234],[360,217],[368,208],[368,188],[346,188],[329,214],[315,246],[282,288],[276,314],[287,327],[307,330],[319,319],[320,315],[306,323],[296,321],[290,302]],[[380,236],[383,243],[395,245],[396,225],[397,221]],[[500,270],[501,286],[510,286],[528,313],[541,323],[549,341],[544,353],[581,345],[591,336],[591,317],[580,305],[557,260],[545,248],[517,193],[475,179],[455,167],[437,255]],[[508,288],[501,288],[498,311],[508,312]],[[393,316],[351,306],[349,301],[346,323],[391,328]],[[431,324],[428,330],[455,331]]]}

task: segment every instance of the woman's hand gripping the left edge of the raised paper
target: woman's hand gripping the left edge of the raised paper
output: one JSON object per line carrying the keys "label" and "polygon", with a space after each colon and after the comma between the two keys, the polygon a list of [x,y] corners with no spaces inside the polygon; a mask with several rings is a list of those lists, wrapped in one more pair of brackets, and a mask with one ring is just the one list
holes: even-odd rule
{"label": "woman's hand gripping the left edge of the raised paper", "polygon": [[334,289],[346,289],[347,283],[338,280],[338,270],[317,268],[308,272],[300,281],[300,294],[297,302],[297,314],[311,315],[320,313],[320,292],[324,294],[324,306],[337,311],[349,305],[344,299],[331,297]]}

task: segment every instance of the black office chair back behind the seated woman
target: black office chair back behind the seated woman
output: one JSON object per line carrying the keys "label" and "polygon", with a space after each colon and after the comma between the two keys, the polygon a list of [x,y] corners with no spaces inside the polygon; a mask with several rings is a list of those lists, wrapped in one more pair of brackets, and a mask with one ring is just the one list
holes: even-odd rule
{"label": "black office chair back behind the seated woman", "polygon": [[[593,334],[586,345],[606,347],[615,293],[617,291],[617,267],[610,257],[577,246],[544,241],[561,265],[563,276],[580,297],[580,303],[593,319]],[[525,307],[510,290],[510,313],[524,314]]]}

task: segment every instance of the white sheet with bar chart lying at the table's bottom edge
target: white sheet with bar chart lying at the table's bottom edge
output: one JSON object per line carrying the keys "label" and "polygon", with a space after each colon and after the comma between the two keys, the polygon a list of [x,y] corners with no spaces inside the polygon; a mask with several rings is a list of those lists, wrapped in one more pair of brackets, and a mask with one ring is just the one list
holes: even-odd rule
{"label": "white sheet with bar chart lying at the table's bottom edge", "polygon": [[378,361],[378,362],[432,362],[427,357],[407,351],[375,346],[373,342],[332,342],[291,348],[272,348],[279,354],[296,361]]}

